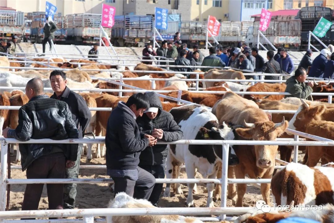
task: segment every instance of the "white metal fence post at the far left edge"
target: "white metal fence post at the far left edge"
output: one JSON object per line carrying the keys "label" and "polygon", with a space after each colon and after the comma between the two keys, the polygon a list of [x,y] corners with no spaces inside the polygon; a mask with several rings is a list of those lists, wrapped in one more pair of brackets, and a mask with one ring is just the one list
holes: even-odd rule
{"label": "white metal fence post at the far left edge", "polygon": [[1,139],[0,211],[6,210],[7,142]]}

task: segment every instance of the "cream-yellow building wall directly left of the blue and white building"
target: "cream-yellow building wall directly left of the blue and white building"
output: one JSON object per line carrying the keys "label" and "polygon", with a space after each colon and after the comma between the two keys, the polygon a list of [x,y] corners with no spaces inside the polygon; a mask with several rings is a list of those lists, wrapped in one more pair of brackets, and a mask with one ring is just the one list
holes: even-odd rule
{"label": "cream-yellow building wall directly left of the blue and white building", "polygon": [[[228,17],[224,17],[224,14],[228,14],[228,4],[230,1],[222,0],[221,7],[213,7],[212,0],[207,0],[207,5],[204,5],[204,0],[199,0],[199,5],[196,4],[196,0],[191,0],[191,13],[190,19],[195,21],[204,21],[209,15],[221,19],[221,21],[228,21]],[[190,1],[189,1],[190,3]]]}

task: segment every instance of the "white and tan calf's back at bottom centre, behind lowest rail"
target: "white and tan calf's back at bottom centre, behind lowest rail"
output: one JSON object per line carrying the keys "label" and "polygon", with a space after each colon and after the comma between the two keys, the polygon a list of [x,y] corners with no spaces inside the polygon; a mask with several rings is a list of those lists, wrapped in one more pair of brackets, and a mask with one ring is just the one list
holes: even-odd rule
{"label": "white and tan calf's back at bottom centre, behind lowest rail", "polygon": [[[149,201],[135,199],[124,192],[118,193],[110,201],[108,208],[157,208]],[[134,216],[106,216],[108,223],[202,223],[193,217],[180,215],[134,215]]]}

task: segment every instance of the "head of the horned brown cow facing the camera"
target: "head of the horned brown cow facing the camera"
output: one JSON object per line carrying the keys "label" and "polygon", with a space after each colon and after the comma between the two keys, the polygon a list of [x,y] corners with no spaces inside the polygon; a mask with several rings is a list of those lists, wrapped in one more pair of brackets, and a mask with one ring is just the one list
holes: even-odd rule
{"label": "head of the horned brown cow facing the camera", "polygon": [[[236,133],[245,139],[254,139],[260,141],[274,141],[281,136],[288,127],[288,121],[274,123],[272,121],[247,123],[244,121],[245,128],[235,129]],[[260,168],[271,168],[275,165],[275,156],[277,145],[256,145],[256,165]]]}

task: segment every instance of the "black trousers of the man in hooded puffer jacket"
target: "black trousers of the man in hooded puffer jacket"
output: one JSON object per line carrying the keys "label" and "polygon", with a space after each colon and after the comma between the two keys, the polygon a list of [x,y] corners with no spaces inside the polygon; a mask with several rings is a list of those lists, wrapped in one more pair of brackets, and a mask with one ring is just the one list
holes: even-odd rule
{"label": "black trousers of the man in hooded puffer jacket", "polygon": [[[140,167],[147,172],[151,173],[156,179],[164,179],[165,178],[165,163],[161,165],[140,165]],[[158,202],[160,199],[160,195],[162,192],[163,184],[155,184],[152,190],[152,194],[148,199],[154,206],[158,206]]]}

